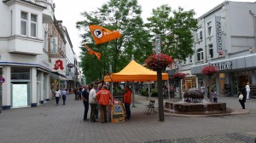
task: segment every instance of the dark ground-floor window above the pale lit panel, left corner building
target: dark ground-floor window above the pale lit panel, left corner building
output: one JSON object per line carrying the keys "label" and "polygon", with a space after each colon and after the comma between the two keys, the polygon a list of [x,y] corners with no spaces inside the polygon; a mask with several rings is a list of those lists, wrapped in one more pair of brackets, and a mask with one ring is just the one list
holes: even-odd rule
{"label": "dark ground-floor window above the pale lit panel, left corner building", "polygon": [[30,68],[12,67],[11,68],[11,79],[29,80],[30,79]]}

